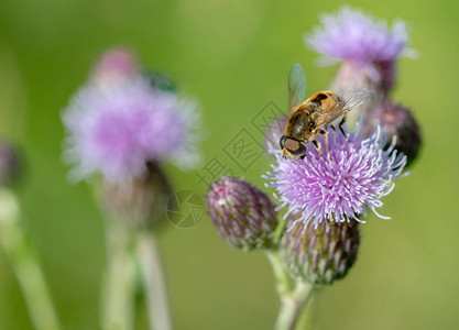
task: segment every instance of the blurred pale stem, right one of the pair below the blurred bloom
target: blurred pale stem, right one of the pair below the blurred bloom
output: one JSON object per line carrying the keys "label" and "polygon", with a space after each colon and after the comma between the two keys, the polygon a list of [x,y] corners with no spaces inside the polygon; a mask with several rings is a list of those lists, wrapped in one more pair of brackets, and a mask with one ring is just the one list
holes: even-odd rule
{"label": "blurred pale stem, right one of the pair below the blurred bloom", "polygon": [[146,295],[150,329],[170,330],[172,329],[172,322],[166,286],[162,272],[160,251],[153,233],[139,233],[136,253]]}

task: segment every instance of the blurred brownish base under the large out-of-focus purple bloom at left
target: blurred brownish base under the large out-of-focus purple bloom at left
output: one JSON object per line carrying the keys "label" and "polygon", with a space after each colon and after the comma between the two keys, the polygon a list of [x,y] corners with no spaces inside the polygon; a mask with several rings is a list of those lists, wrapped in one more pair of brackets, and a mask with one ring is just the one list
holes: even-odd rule
{"label": "blurred brownish base under the large out-of-focus purple bloom at left", "polygon": [[171,186],[162,168],[149,163],[145,177],[103,182],[98,193],[110,218],[128,221],[133,228],[151,228],[165,218]]}

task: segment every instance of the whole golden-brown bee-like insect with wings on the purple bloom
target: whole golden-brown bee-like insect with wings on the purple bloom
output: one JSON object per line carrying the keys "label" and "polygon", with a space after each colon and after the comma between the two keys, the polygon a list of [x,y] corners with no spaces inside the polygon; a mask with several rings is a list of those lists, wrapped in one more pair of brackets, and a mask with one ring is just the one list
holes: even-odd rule
{"label": "whole golden-brown bee-like insect with wings on the purple bloom", "polygon": [[338,127],[346,135],[342,124],[348,112],[362,105],[371,95],[365,88],[343,94],[325,90],[304,100],[305,92],[306,76],[302,66],[295,63],[288,76],[288,120],[284,135],[278,142],[284,156],[291,160],[303,158],[308,142],[312,142],[321,155],[320,144],[316,139],[319,134],[325,135],[327,150],[328,132],[324,130],[325,125],[342,116]]}

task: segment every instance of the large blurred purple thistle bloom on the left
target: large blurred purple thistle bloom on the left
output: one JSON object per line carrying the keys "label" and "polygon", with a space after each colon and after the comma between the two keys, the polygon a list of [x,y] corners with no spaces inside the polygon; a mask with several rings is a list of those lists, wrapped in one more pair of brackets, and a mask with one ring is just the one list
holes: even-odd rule
{"label": "large blurred purple thistle bloom on the left", "polygon": [[161,92],[142,78],[100,89],[81,88],[63,113],[67,129],[65,157],[70,175],[95,173],[119,183],[146,175],[149,162],[172,160],[182,167],[198,161],[198,116],[177,95]]}

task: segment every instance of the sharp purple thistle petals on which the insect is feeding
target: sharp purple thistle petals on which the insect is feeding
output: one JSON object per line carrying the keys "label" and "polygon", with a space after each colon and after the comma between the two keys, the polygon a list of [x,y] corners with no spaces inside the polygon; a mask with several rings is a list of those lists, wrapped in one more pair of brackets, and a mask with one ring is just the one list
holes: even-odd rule
{"label": "sharp purple thistle petals on which the insect is feeding", "polygon": [[298,215],[295,222],[314,222],[315,228],[323,221],[364,222],[367,208],[378,217],[376,208],[382,207],[381,197],[390,194],[393,180],[402,177],[406,156],[394,150],[396,139],[384,150],[386,139],[376,130],[367,139],[360,134],[361,121],[353,132],[328,130],[328,151],[324,136],[318,138],[323,156],[312,143],[306,144],[304,160],[284,160],[278,151],[277,164],[264,176],[267,187],[277,189],[275,198],[280,209],[288,205],[289,215]]}

